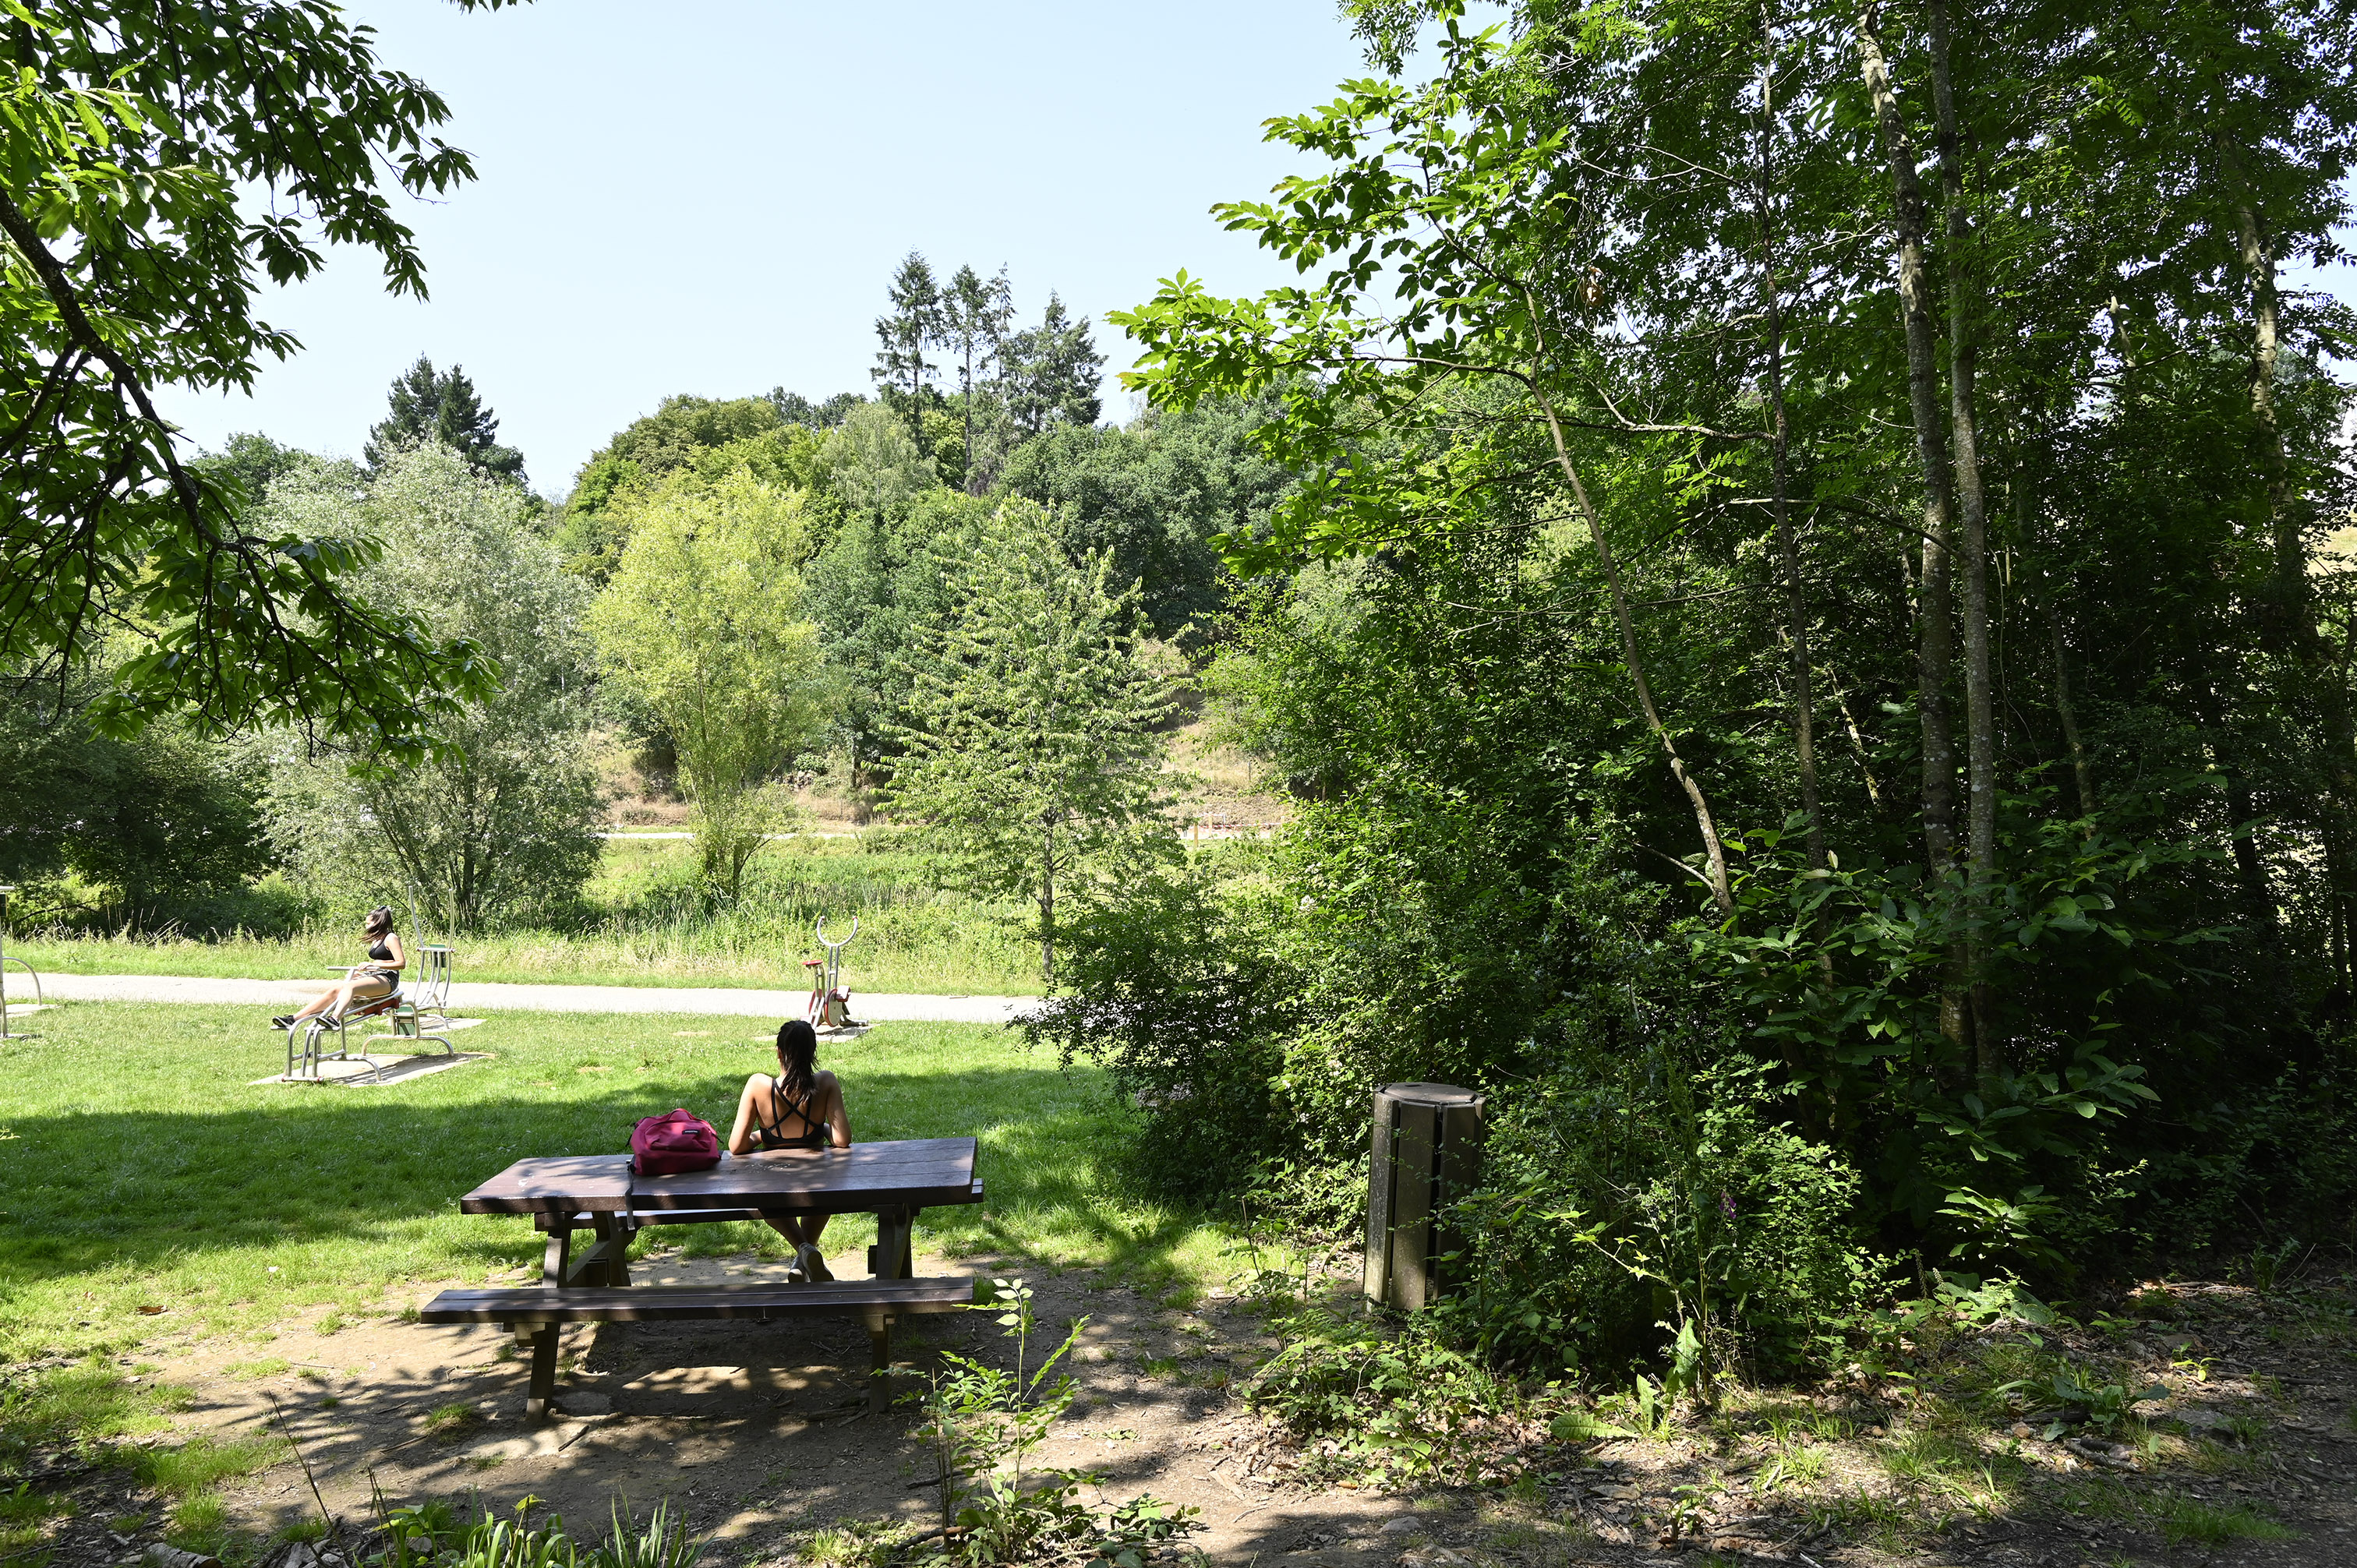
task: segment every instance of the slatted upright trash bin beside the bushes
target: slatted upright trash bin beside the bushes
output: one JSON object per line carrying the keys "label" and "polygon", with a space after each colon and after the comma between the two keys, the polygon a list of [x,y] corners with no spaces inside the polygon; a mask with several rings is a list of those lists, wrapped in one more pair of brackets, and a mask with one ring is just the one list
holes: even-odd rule
{"label": "slatted upright trash bin beside the bushes", "polygon": [[1480,1094],[1454,1085],[1384,1085],[1374,1092],[1369,1302],[1417,1311],[1457,1283],[1442,1259],[1464,1243],[1440,1212],[1480,1186],[1483,1103]]}

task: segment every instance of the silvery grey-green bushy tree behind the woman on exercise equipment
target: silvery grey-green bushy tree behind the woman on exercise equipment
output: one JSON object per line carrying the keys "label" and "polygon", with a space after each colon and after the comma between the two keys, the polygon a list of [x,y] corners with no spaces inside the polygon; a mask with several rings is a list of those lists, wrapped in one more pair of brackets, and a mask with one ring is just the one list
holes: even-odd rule
{"label": "silvery grey-green bushy tree behind the woman on exercise equipment", "polygon": [[271,842],[335,908],[415,896],[441,931],[566,908],[596,868],[603,813],[587,759],[589,592],[528,528],[521,490],[422,446],[387,455],[358,498],[283,481],[271,507],[379,538],[370,594],[502,672],[497,693],[441,724],[441,766],[354,771],[280,740],[266,752]]}

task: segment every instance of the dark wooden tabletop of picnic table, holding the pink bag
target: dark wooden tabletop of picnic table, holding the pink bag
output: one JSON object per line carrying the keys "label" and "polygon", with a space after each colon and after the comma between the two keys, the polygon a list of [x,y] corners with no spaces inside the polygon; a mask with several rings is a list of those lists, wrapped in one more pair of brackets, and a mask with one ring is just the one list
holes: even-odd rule
{"label": "dark wooden tabletop of picnic table, holding the pink bag", "polygon": [[721,1153],[712,1170],[634,1177],[629,1155],[516,1160],[457,1200],[462,1214],[618,1214],[625,1210],[865,1212],[981,1203],[973,1139]]}

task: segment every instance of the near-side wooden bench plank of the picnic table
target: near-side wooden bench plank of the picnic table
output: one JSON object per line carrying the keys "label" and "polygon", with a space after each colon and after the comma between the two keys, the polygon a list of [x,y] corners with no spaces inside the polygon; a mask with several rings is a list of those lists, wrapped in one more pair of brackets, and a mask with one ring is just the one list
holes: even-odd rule
{"label": "near-side wooden bench plank of the picnic table", "polygon": [[971,1276],[832,1280],[820,1285],[629,1285],[445,1290],[420,1323],[674,1323],[688,1318],[823,1318],[860,1311],[940,1313],[976,1299]]}

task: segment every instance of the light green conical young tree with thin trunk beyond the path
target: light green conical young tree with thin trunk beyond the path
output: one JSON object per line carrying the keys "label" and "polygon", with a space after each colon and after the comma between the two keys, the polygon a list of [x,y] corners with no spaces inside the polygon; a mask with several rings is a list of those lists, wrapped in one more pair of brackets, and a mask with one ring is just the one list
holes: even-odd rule
{"label": "light green conical young tree with thin trunk beyond the path", "polygon": [[1103,556],[1072,566],[1039,507],[1009,500],[933,554],[950,604],[907,660],[893,813],[950,887],[1037,905],[1054,981],[1058,884],[1174,849],[1155,733],[1167,700],[1131,597]]}

